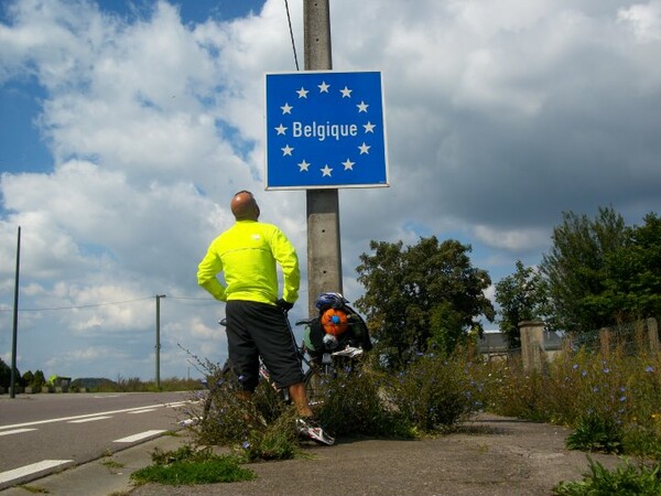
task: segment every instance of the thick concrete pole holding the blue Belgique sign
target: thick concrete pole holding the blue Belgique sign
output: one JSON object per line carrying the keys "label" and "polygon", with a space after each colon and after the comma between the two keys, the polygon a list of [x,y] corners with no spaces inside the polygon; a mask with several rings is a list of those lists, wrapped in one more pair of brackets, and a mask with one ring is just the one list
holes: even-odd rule
{"label": "thick concrete pole holding the blue Belgique sign", "polygon": [[[303,31],[305,71],[329,71],[329,0],[304,0]],[[307,190],[307,304],[315,312],[316,296],[324,291],[343,291],[337,188]]]}

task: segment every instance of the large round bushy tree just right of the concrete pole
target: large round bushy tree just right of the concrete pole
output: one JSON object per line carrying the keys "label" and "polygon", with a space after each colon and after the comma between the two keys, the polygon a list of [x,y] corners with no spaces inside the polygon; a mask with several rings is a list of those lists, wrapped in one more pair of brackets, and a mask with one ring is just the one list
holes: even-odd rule
{"label": "large round bushy tree just right of the concrete pole", "polygon": [[402,241],[372,240],[370,250],[356,268],[366,290],[356,308],[367,316],[387,367],[405,367],[430,347],[449,353],[468,331],[481,333],[480,315],[494,320],[484,294],[491,281],[472,266],[469,246],[432,236],[405,248]]}

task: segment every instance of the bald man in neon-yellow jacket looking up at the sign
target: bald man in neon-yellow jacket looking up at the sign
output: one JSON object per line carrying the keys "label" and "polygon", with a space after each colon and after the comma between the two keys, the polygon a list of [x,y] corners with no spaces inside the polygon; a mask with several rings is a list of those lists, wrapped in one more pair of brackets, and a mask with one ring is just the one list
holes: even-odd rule
{"label": "bald man in neon-yellow jacket looking up at the sign", "polygon": [[[216,300],[227,302],[229,360],[248,397],[259,379],[259,356],[279,388],[288,388],[296,410],[299,431],[326,444],[333,438],[312,420],[303,369],[294,335],[286,321],[299,298],[299,257],[274,225],[258,222],[252,193],[240,191],[230,202],[236,224],[212,241],[199,262],[197,282]],[[284,279],[278,296],[277,263]],[[217,279],[223,272],[225,285]]]}

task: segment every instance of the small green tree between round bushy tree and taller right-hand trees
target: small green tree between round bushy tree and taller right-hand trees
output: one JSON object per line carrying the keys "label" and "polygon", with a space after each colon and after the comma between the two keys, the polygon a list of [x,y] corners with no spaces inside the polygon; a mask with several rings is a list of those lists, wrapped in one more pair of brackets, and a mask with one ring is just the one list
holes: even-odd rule
{"label": "small green tree between round bushy tree and taller right-hand trees", "polygon": [[516,262],[517,270],[496,284],[496,302],[500,305],[498,324],[509,346],[521,346],[519,323],[546,320],[550,316],[549,284],[532,267]]}

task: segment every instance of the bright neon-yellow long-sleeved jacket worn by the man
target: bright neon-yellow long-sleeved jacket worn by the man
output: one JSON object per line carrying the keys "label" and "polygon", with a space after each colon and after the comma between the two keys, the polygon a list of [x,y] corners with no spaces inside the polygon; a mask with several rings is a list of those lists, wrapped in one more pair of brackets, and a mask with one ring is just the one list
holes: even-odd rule
{"label": "bright neon-yellow long-sleeved jacket worn by the man", "polygon": [[[238,220],[218,236],[197,268],[197,283],[216,300],[247,300],[275,303],[278,272],[282,268],[282,298],[294,303],[299,298],[301,272],[299,257],[286,236],[274,225]],[[225,287],[216,276],[224,272]]]}

